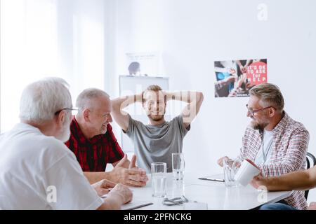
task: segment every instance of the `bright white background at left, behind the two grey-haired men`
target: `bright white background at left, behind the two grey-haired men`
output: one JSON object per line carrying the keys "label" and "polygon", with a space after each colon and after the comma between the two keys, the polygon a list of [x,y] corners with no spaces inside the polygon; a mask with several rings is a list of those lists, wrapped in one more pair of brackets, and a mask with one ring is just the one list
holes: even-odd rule
{"label": "bright white background at left, behind the two grey-haired men", "polygon": [[84,88],[105,88],[105,52],[110,53],[105,49],[107,3],[1,1],[0,132],[18,123],[20,95],[34,80],[64,78],[70,83],[73,104]]}

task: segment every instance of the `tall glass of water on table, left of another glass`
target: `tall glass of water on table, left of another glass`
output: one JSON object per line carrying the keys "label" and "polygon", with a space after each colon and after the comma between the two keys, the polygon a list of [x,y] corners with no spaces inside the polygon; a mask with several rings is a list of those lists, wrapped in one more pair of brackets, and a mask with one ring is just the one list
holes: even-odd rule
{"label": "tall glass of water on table, left of another glass", "polygon": [[152,162],[152,197],[166,196],[166,162]]}

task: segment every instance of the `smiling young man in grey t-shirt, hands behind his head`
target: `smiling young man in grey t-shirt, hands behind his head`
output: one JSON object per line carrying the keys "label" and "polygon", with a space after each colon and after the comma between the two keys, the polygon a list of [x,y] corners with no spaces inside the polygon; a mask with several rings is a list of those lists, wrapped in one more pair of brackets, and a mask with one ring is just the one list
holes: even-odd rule
{"label": "smiling young man in grey t-shirt, hands behind his head", "polygon": [[[166,102],[171,99],[187,102],[187,106],[179,116],[167,122],[164,120]],[[149,125],[121,111],[136,102],[143,104]],[[142,94],[112,100],[112,116],[133,141],[138,167],[150,173],[152,162],[166,162],[167,172],[172,171],[171,154],[182,152],[183,138],[190,130],[190,123],[197,116],[202,102],[202,92],[163,92],[158,85],[150,85]]]}

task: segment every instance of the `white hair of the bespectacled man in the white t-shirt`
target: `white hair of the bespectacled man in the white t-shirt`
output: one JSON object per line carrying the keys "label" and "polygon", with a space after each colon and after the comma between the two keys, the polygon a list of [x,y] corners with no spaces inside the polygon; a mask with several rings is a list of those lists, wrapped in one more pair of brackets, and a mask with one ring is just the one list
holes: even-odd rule
{"label": "white hair of the bespectacled man in the white t-shirt", "polygon": [[57,111],[72,107],[68,83],[62,78],[43,78],[25,87],[20,99],[20,120],[43,123]]}

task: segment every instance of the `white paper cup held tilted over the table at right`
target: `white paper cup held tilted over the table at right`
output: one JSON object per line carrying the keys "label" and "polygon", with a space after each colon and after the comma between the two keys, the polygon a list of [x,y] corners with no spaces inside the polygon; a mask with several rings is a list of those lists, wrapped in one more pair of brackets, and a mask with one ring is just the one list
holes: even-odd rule
{"label": "white paper cup held tilted over the table at right", "polygon": [[250,160],[244,160],[235,175],[235,181],[238,181],[242,186],[246,186],[258,174],[260,174],[260,169]]}

